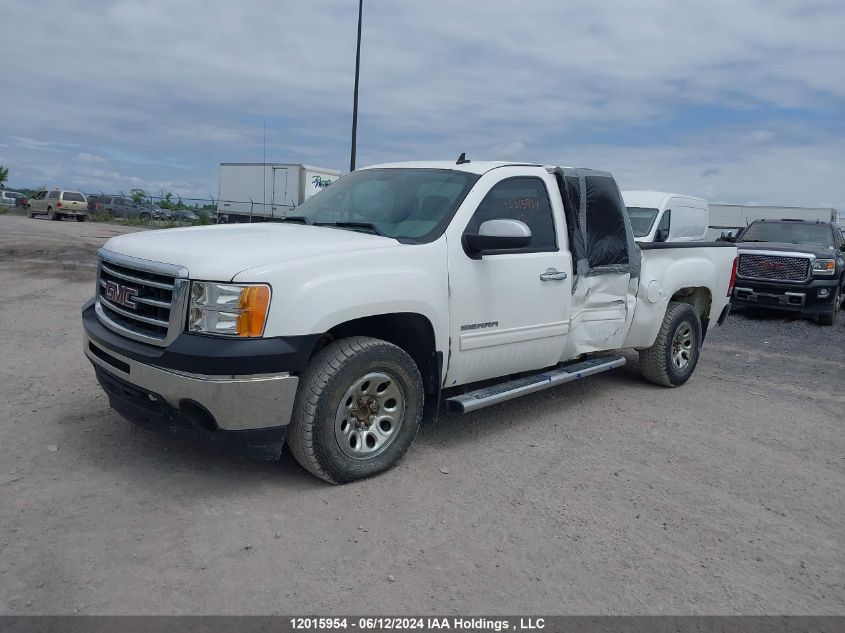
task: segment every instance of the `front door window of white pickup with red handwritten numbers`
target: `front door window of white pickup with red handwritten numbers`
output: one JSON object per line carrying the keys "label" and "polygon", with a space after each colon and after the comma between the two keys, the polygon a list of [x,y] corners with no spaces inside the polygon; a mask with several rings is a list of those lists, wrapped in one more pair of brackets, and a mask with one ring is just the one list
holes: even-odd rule
{"label": "front door window of white pickup with red handwritten numbers", "polygon": [[467,226],[477,233],[487,220],[519,220],[531,229],[528,250],[557,249],[555,223],[546,185],[538,178],[510,178],[495,185],[481,201]]}

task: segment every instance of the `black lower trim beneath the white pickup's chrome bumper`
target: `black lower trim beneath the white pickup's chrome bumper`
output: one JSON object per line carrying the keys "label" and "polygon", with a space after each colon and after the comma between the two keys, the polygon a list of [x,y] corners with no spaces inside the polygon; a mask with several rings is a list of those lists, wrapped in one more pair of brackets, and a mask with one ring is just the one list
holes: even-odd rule
{"label": "black lower trim beneath the white pickup's chrome bumper", "polygon": [[243,431],[220,429],[208,412],[175,409],[158,394],[131,385],[96,365],[94,369],[111,408],[140,427],[199,440],[252,459],[275,460],[281,456],[286,426]]}

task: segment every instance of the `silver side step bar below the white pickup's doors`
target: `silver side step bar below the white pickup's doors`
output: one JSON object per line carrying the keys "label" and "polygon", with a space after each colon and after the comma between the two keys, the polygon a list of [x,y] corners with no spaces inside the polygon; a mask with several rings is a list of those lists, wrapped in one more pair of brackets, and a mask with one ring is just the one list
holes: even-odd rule
{"label": "silver side step bar below the white pickup's doors", "polygon": [[449,398],[446,400],[446,408],[458,413],[469,413],[476,409],[489,407],[491,404],[499,404],[529,393],[562,385],[565,382],[580,380],[609,369],[616,369],[624,364],[624,356],[597,356],[575,363],[558,365],[554,369],[533,376],[509,380],[492,387],[483,387]]}

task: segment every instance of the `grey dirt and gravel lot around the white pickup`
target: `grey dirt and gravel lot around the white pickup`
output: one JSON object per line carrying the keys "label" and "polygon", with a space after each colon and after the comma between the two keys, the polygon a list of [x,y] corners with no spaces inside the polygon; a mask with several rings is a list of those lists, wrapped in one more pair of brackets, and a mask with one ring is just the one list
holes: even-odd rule
{"label": "grey dirt and gravel lot around the white pickup", "polygon": [[331,487],[109,409],[79,310],[127,230],[0,216],[0,612],[845,613],[845,321],[732,316],[680,389],[632,362]]}

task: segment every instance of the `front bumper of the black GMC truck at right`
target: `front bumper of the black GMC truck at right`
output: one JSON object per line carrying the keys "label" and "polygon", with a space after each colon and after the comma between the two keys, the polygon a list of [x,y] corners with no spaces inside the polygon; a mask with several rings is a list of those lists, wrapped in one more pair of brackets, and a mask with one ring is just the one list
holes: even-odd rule
{"label": "front bumper of the black GMC truck at right", "polygon": [[839,279],[812,279],[807,284],[784,284],[737,277],[731,302],[735,306],[760,306],[806,314],[833,312]]}

